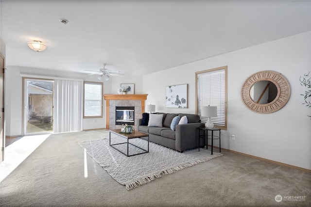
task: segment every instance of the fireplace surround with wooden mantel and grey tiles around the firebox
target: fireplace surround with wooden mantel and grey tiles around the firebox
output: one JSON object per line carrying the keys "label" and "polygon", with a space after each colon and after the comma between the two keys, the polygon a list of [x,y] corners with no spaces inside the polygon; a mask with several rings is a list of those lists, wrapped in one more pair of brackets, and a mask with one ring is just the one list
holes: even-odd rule
{"label": "fireplace surround with wooden mantel and grey tiles around the firebox", "polygon": [[116,127],[121,128],[114,123],[117,103],[121,103],[121,106],[135,106],[135,118],[141,118],[141,114],[145,111],[145,100],[148,94],[104,94],[103,96],[106,100],[106,128],[116,129]]}

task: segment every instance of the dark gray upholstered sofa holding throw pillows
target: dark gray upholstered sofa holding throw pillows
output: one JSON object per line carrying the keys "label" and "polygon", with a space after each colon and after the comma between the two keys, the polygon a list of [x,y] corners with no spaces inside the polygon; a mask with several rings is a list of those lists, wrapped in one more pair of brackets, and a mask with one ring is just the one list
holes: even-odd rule
{"label": "dark gray upholstered sofa holding throw pillows", "polygon": [[[142,119],[137,120],[137,130],[149,134],[149,141],[157,143],[179,152],[199,147],[199,129],[204,127],[200,122],[200,116],[187,113],[160,113],[163,114],[163,127],[142,126]],[[188,124],[176,125],[175,131],[171,129],[171,123],[175,116],[187,116]],[[201,146],[204,147],[205,139],[200,140]]]}

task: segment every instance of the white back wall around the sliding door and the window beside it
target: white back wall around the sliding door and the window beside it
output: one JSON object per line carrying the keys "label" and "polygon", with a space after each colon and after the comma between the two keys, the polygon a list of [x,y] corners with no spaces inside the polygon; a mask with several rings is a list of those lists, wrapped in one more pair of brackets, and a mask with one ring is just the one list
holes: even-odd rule
{"label": "white back wall around the sliding door and the window beside it", "polygon": [[[69,73],[63,71],[52,71],[44,69],[34,69],[19,66],[7,66],[5,71],[5,118],[6,118],[6,136],[22,135],[22,77],[23,74],[33,74],[42,76],[56,76],[71,79],[83,79],[98,82],[96,76],[87,76],[83,73]],[[55,75],[57,74],[57,75]],[[111,93],[111,80],[104,80],[104,94]],[[103,118],[83,119],[83,129],[105,128],[105,101],[103,106]]]}

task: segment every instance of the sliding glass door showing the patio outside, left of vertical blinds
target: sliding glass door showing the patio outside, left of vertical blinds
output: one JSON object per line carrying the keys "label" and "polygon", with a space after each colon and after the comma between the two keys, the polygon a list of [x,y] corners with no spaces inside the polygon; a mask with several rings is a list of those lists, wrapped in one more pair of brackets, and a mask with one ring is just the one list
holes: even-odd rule
{"label": "sliding glass door showing the patio outside, left of vertical blinds", "polygon": [[53,132],[53,89],[53,80],[25,79],[25,135]]}

